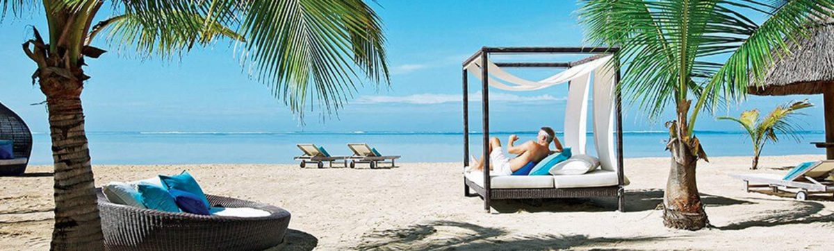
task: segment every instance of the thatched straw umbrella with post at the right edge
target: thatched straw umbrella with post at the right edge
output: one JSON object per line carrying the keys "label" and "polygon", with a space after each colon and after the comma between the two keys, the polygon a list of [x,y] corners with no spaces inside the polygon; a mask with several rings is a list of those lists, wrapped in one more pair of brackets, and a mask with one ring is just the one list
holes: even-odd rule
{"label": "thatched straw umbrella with post at the right edge", "polygon": [[826,142],[814,144],[834,160],[834,22],[813,27],[808,37],[789,44],[791,53],[776,57],[761,85],[751,81],[747,91],[759,96],[822,94]]}

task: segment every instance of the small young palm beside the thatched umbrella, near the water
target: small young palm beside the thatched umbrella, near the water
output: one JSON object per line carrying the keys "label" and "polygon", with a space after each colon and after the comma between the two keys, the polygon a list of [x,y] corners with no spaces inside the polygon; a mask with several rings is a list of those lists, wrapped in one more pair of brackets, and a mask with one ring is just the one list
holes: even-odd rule
{"label": "small young palm beside the thatched umbrella, near the water", "polygon": [[756,170],[759,165],[761,149],[765,147],[767,141],[773,141],[774,143],[779,141],[776,133],[790,135],[794,139],[799,140],[799,136],[796,135],[796,126],[791,125],[789,120],[791,116],[801,115],[801,113],[796,112],[797,110],[811,106],[814,105],[811,105],[808,100],[792,103],[787,102],[781,106],[776,106],[776,109],[773,109],[761,121],[759,120],[759,110],[757,109],[743,111],[738,118],[721,116],[718,119],[723,121],[736,121],[750,135],[750,140],[753,141],[753,165],[751,165],[750,169]]}

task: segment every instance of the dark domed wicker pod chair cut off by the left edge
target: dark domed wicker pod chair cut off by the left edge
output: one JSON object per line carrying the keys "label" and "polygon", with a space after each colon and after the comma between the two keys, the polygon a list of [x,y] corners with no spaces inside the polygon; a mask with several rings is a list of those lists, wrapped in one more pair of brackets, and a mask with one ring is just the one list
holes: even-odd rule
{"label": "dark domed wicker pod chair cut off by the left edge", "polygon": [[0,103],[0,140],[12,140],[15,159],[0,160],[0,176],[23,175],[32,154],[32,132],[26,122]]}

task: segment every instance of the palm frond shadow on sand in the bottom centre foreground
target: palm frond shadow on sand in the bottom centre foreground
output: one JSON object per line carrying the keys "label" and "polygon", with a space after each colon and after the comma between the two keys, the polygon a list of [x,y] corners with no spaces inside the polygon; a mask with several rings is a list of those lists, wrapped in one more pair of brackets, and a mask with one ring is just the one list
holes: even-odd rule
{"label": "palm frond shadow on sand in the bottom centre foreground", "polygon": [[605,244],[651,242],[662,237],[590,238],[587,235],[537,234],[510,236],[505,229],[455,221],[434,221],[404,229],[383,230],[363,236],[358,250],[553,250]]}

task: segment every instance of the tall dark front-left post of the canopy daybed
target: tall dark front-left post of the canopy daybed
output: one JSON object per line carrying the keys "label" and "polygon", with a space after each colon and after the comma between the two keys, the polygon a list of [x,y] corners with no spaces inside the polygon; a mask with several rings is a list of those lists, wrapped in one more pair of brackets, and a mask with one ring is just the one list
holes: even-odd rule
{"label": "tall dark front-left post of the canopy daybed", "polygon": [[484,209],[490,213],[490,195],[492,194],[492,186],[490,185],[490,74],[489,63],[490,54],[487,53],[486,47],[480,49],[480,76],[481,76],[481,102],[483,104],[484,112]]}

